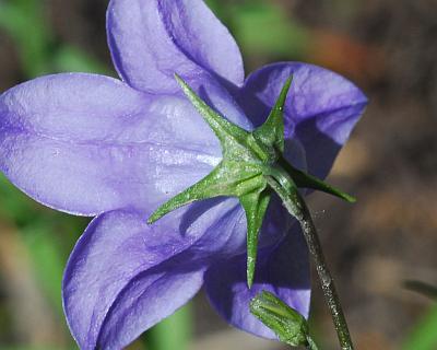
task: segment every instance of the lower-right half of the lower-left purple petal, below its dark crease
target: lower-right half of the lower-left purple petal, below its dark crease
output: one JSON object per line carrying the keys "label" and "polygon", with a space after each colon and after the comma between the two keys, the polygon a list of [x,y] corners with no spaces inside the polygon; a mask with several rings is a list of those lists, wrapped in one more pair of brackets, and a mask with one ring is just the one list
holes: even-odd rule
{"label": "lower-right half of the lower-left purple petal, below its dark crease", "polygon": [[203,267],[184,267],[186,259],[164,264],[132,280],[108,313],[98,345],[122,349],[144,330],[187,303],[203,283]]}

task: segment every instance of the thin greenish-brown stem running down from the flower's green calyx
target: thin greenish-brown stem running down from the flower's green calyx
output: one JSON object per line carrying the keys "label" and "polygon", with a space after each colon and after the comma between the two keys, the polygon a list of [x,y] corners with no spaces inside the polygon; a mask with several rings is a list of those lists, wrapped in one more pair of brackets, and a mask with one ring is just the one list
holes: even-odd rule
{"label": "thin greenish-brown stem running down from the flower's green calyx", "polygon": [[334,323],[341,349],[353,350],[354,346],[352,343],[351,335],[349,332],[346,319],[344,317],[340,299],[336,293],[333,279],[331,277],[331,272],[329,271],[328,265],[326,262],[320,240],[307,205],[305,203],[298,191],[294,191],[293,194],[291,194],[273,178],[268,179],[268,182],[269,185],[274,189],[274,191],[281,197],[284,207],[287,209],[290,214],[292,214],[299,221],[305,240],[308,245],[308,249],[316,265],[324,300],[331,312],[332,320]]}

